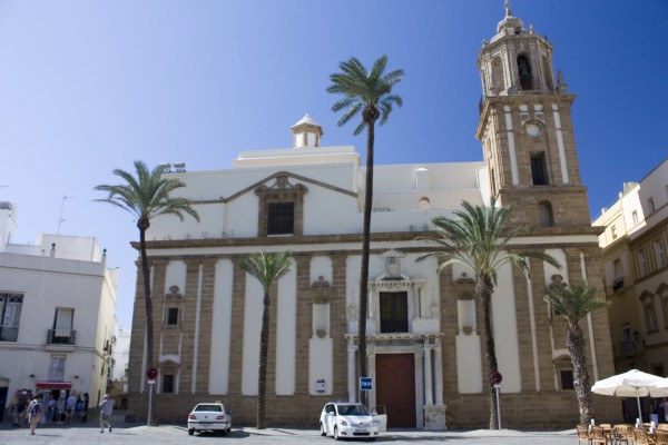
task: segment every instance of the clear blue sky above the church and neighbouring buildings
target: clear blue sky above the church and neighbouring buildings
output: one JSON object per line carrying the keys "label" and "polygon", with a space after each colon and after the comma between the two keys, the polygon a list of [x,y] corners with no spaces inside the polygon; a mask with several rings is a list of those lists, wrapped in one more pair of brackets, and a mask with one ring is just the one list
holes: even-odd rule
{"label": "clear blue sky above the church and neighbouring buildings", "polygon": [[[593,217],[668,156],[668,1],[511,6],[548,36],[578,95]],[[60,233],[95,236],[120,267],[129,326],[138,231],[92,202],[96,185],[118,182],[114,168],[230,168],[238,151],[289,147],[306,112],[323,145],[364,154],[325,89],[338,62],[381,55],[405,71],[404,107],[376,131],[376,164],[481,160],[475,61],[503,14],[502,0],[0,0],[0,200],[18,205],[14,241],[56,233],[62,209]]]}

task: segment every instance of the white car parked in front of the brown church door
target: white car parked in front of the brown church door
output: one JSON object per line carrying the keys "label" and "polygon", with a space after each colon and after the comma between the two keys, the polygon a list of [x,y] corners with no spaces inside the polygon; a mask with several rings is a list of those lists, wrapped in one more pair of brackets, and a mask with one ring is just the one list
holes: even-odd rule
{"label": "white car parked in front of the brown church door", "polygon": [[321,436],[340,438],[375,439],[380,427],[385,424],[382,416],[372,414],[366,406],[352,402],[330,402],[323,408],[320,419]]}

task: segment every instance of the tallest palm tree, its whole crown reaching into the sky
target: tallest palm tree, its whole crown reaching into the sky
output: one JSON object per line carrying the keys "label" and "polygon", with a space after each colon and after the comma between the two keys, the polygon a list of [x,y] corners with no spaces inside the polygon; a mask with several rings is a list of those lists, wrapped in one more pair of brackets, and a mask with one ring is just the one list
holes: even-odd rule
{"label": "tallest palm tree, its whole crown reaching into the sky", "polygon": [[[366,188],[364,190],[364,222],[362,235],[362,266],[360,277],[360,316],[357,325],[357,356],[360,377],[367,376],[366,367],[366,313],[367,313],[367,283],[369,283],[369,250],[371,241],[371,210],[373,200],[373,150],[375,139],[375,122],[381,125],[387,121],[394,105],[401,107],[401,97],[392,93],[392,88],[403,78],[403,70],[394,70],[384,73],[387,65],[387,56],[379,58],[371,71],[352,57],[341,62],[338,67],[342,72],[330,76],[332,85],[327,92],[343,95],[333,106],[334,112],[345,109],[338,119],[338,127],[345,125],[362,111],[362,120],[355,127],[353,134],[360,135],[366,128]],[[362,394],[362,402],[366,394]]]}

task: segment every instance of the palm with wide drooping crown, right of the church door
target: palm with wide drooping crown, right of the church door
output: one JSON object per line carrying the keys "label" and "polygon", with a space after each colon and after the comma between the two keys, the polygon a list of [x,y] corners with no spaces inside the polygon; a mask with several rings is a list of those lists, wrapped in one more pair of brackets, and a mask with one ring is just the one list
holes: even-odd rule
{"label": "palm with wide drooping crown, right of the church door", "polygon": [[441,263],[439,271],[452,264],[460,264],[475,275],[475,296],[482,303],[483,342],[487,372],[490,377],[490,429],[498,429],[498,412],[494,393],[494,378],[500,376],[497,364],[494,335],[491,324],[491,297],[497,284],[497,270],[505,264],[517,266],[524,276],[530,276],[529,258],[537,258],[561,268],[552,256],[536,251],[511,251],[511,241],[521,235],[522,227],[509,227],[510,207],[497,207],[492,198],[490,206],[473,206],[462,201],[463,210],[455,210],[456,219],[436,217],[432,224],[436,227],[435,237],[420,237],[419,240],[435,243],[440,249],[418,258],[436,258]]}

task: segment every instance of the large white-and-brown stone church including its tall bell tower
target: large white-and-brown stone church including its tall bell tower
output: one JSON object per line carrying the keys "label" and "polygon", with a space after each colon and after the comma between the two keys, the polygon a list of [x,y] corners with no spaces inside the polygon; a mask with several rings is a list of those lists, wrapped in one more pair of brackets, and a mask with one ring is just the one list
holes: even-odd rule
{"label": "large white-and-brown stone church including its tall bell tower", "polygon": [[[566,325],[546,287],[587,279],[601,288],[598,230],[589,221],[570,108],[553,76],[552,46],[507,8],[478,58],[483,160],[375,166],[369,276],[370,406],[389,427],[477,428],[489,422],[481,307],[474,276],[438,273],[415,241],[462,200],[512,205],[527,227],[513,249],[532,279],[499,270],[492,322],[503,382],[504,427],[572,426],[579,419]],[[198,402],[223,399],[253,424],[263,290],[239,267],[254,253],[289,250],[291,273],[272,291],[266,413],[269,425],[317,427],[333,399],[358,400],[358,281],[365,169],[352,146],[325,147],[305,116],[292,148],[240,152],[234,168],[168,171],[202,220],[158,218],[147,234],[151,267],[157,416],[184,422]],[[180,169],[179,169],[180,170]],[[129,415],[146,418],[145,309],[138,269],[129,358]],[[606,312],[582,322],[592,379],[613,374]],[[597,413],[606,409],[599,404]]]}

